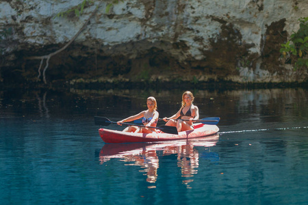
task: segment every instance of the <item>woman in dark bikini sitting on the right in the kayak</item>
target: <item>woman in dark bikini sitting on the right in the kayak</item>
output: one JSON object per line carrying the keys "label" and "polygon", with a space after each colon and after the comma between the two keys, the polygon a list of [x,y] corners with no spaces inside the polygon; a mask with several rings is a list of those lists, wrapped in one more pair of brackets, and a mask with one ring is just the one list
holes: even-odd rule
{"label": "woman in dark bikini sitting on the right in the kayak", "polygon": [[[172,115],[170,118],[164,118],[164,121],[167,122],[167,126],[176,126],[177,131],[190,131],[194,129],[193,120],[199,119],[199,109],[196,105],[193,105],[194,95],[190,91],[186,91],[182,95],[182,107]],[[175,120],[181,117],[179,120]],[[189,120],[189,121],[183,121]]]}

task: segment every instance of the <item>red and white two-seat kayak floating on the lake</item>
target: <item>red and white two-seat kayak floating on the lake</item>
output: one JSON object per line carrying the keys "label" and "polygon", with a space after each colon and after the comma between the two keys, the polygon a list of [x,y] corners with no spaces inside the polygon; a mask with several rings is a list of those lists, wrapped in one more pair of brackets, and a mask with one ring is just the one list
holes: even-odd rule
{"label": "red and white two-seat kayak floating on the lake", "polygon": [[218,133],[219,128],[213,124],[194,124],[194,129],[190,131],[181,131],[179,135],[168,133],[127,133],[123,131],[114,131],[105,128],[99,129],[99,135],[105,143],[131,143],[131,142],[152,142],[152,141],[170,141],[179,139],[192,139],[196,137],[205,137]]}

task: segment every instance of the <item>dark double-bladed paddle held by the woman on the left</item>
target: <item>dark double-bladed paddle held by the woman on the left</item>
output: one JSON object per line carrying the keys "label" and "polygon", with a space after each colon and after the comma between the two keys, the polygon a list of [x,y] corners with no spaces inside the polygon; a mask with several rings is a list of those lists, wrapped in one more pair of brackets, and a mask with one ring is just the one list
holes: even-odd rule
{"label": "dark double-bladed paddle held by the woman on the left", "polygon": [[[110,124],[117,124],[116,122],[110,121],[108,118],[99,117],[99,116],[94,116],[94,123],[96,125],[101,125],[101,126],[108,126]],[[146,127],[144,125],[139,125],[139,124],[129,124],[129,123],[121,123],[121,124],[128,125],[128,126]],[[162,125],[162,126],[159,126],[159,127],[155,127],[155,126],[148,126],[148,127],[159,129],[159,130],[163,131],[164,133],[179,135],[179,133],[177,132],[177,128],[175,126]]]}

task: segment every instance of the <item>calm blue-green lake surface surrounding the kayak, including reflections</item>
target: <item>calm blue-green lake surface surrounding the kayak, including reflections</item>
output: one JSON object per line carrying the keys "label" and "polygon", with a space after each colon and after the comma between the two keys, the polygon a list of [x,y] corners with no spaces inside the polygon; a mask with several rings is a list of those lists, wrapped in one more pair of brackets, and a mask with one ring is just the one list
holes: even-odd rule
{"label": "calm blue-green lake surface surrounding the kayak, including reflections", "polygon": [[[0,91],[1,204],[308,204],[308,91],[191,90],[218,135],[107,144],[94,115],[179,110],[185,90]],[[124,126],[106,127],[122,130]]]}

